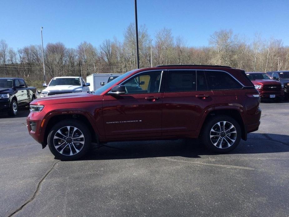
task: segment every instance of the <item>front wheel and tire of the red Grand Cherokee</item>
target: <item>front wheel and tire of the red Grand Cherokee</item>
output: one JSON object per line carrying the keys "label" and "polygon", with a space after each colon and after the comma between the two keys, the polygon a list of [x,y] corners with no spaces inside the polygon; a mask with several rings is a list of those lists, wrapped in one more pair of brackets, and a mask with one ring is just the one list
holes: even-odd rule
{"label": "front wheel and tire of the red Grand Cherokee", "polygon": [[[74,138],[78,138],[77,141]],[[63,120],[52,127],[48,134],[47,144],[56,159],[74,160],[87,153],[91,146],[91,134],[81,121]]]}

